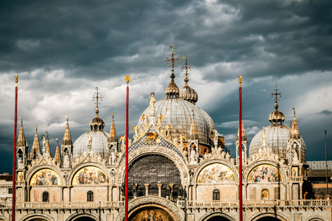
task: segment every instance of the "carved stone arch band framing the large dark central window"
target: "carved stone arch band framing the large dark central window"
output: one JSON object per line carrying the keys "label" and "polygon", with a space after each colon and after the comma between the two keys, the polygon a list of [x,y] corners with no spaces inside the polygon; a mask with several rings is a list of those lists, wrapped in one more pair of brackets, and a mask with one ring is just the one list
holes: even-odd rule
{"label": "carved stone arch band framing the large dark central window", "polygon": [[[129,166],[131,166],[136,160],[138,160],[139,157],[151,154],[163,155],[164,157],[167,157],[169,160],[172,160],[172,162],[178,168],[178,171],[180,171],[181,183],[188,184],[189,173],[188,173],[187,164],[178,155],[178,153],[176,153],[170,148],[166,148],[165,146],[156,146],[156,145],[144,146],[142,148],[138,148],[134,151],[131,151],[131,153],[129,153],[128,155]],[[117,176],[118,185],[121,185],[122,182],[124,182],[124,173],[125,173],[124,169],[125,169],[125,161],[122,160],[118,169],[118,176]]]}

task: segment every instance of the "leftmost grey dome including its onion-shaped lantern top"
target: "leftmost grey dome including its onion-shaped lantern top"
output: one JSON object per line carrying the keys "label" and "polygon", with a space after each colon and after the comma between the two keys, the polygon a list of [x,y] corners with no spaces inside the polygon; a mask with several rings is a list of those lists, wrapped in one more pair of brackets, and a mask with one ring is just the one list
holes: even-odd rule
{"label": "leftmost grey dome including its onion-shaped lantern top", "polygon": [[75,140],[73,144],[73,158],[81,157],[84,152],[89,153],[88,143],[89,135],[92,138],[91,150],[95,155],[100,155],[101,157],[107,157],[107,137],[109,133],[104,131],[104,121],[98,116],[98,106],[95,110],[95,118],[93,118],[89,124],[90,131],[82,134]]}

